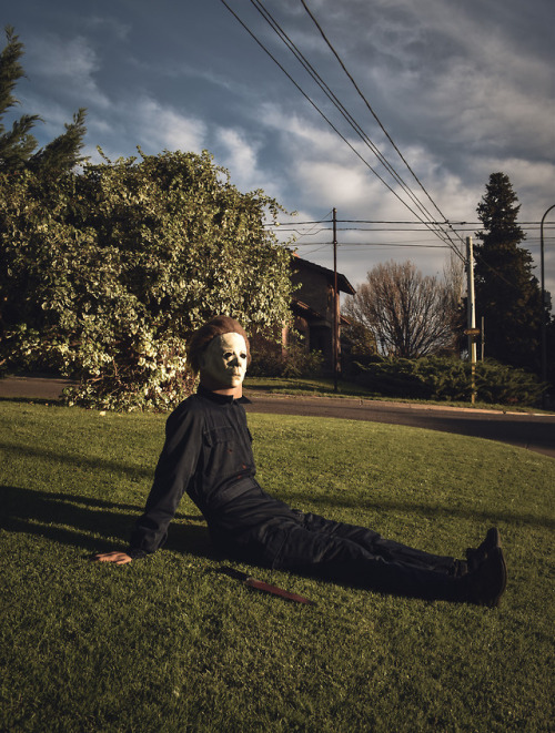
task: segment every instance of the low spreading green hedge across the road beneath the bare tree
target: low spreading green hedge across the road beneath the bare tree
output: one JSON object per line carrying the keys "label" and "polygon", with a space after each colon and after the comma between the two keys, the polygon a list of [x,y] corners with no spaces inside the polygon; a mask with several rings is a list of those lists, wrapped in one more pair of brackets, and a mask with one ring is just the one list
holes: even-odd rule
{"label": "low spreading green hedge across the road beneath the bare tree", "polygon": [[[472,397],[471,364],[454,357],[374,357],[356,366],[356,381],[380,395],[452,401]],[[491,359],[476,364],[475,387],[480,401],[502,405],[534,405],[544,390],[535,375]]]}

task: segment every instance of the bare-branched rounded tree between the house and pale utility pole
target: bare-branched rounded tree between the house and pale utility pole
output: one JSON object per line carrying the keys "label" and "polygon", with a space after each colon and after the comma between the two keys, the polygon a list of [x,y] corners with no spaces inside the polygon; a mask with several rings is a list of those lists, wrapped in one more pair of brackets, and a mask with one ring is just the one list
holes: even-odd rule
{"label": "bare-branched rounded tree between the house and pale utility pole", "polygon": [[373,267],[344,312],[384,356],[416,358],[455,344],[457,294],[412,262]]}

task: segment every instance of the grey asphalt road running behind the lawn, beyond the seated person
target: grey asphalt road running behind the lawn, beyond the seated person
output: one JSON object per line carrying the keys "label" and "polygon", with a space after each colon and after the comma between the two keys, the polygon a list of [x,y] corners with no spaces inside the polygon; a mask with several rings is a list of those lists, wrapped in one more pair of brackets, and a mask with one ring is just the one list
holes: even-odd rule
{"label": "grey asphalt road running behind the lawn, beyond the seated person", "polygon": [[[0,379],[0,398],[57,400],[63,379],[9,377]],[[555,415],[498,413],[427,405],[380,403],[334,397],[285,397],[246,390],[248,413],[304,415],[408,425],[477,438],[500,440],[555,458]]]}

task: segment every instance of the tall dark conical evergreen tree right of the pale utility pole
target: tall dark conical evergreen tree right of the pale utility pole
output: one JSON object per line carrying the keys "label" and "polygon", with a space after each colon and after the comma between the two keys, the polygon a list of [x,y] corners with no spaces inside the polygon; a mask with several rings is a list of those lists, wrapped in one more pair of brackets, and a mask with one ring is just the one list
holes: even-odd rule
{"label": "tall dark conical evergreen tree right of the pale utility pole", "polygon": [[492,173],[477,206],[484,230],[475,247],[476,314],[484,317],[487,356],[537,370],[543,306],[532,255],[519,246],[517,201],[508,176]]}

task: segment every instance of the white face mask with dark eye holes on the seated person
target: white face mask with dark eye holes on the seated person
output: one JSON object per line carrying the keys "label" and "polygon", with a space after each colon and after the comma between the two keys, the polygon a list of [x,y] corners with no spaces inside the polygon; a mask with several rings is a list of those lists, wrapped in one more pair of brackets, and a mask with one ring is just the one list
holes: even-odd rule
{"label": "white face mask with dark eye holes on the seated person", "polygon": [[239,387],[246,371],[246,344],[240,334],[215,336],[200,358],[205,376],[216,389]]}

